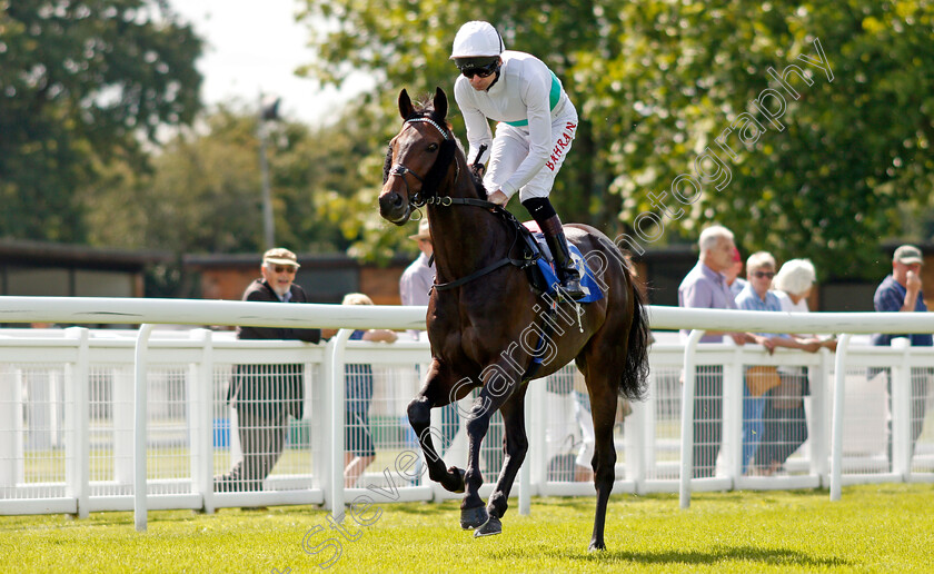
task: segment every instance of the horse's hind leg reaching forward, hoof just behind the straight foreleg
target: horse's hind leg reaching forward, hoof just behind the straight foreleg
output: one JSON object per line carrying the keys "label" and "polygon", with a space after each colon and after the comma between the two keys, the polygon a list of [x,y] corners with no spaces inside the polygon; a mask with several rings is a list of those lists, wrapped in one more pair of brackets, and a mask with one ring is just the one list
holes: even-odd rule
{"label": "horse's hind leg reaching forward, hoof just behind the straight foreleg", "polygon": [[521,385],[513,396],[509,397],[499,412],[506,424],[506,461],[499,478],[496,481],[496,488],[489,497],[487,513],[489,522],[477,528],[474,536],[488,536],[503,532],[503,524],[499,522],[506,514],[509,504],[509,492],[516,481],[516,474],[525,461],[528,452],[528,437],[525,429],[525,394],[528,385]]}

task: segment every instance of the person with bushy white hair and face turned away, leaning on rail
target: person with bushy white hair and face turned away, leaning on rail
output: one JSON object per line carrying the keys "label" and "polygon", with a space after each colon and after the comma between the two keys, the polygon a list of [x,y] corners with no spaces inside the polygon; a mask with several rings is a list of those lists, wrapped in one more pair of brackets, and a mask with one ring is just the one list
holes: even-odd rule
{"label": "person with bushy white hair and face turned away, leaning on rail", "polygon": [[[778,269],[773,280],[775,296],[786,313],[808,313],[807,298],[816,280],[814,265],[807,259],[792,259]],[[807,345],[817,343],[836,349],[836,339],[821,342],[814,335],[795,335]],[[809,350],[808,347],[805,350]],[[816,349],[815,349],[816,350]],[[771,476],[807,441],[804,397],[811,394],[807,367],[778,367],[782,384],[768,392],[762,413],[764,433],[756,452],[756,465]]]}

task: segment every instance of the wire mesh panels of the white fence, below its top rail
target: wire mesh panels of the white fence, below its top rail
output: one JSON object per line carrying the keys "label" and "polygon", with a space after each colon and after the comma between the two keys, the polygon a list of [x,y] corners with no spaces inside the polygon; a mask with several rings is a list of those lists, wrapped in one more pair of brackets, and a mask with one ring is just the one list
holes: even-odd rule
{"label": "wire mesh panels of the white fence, below its top rail", "polygon": [[[202,484],[212,484],[216,493],[326,491],[327,456],[338,433],[344,434],[348,449],[345,467],[360,459],[356,471],[345,468],[346,486],[430,484],[419,468],[400,484],[397,467],[404,453],[421,456],[406,408],[426,374],[427,366],[416,364],[427,355],[425,349],[348,347],[352,360],[344,374],[346,422],[342,429],[332,429],[331,382],[324,378],[319,348],[309,358],[299,346],[269,345],[257,353],[220,343],[202,355],[199,343],[185,342],[179,348],[187,349],[187,356],[159,343],[147,366],[149,494],[188,496],[186,504],[197,505],[197,497],[190,495],[197,495]],[[22,512],[19,508],[29,501],[76,497],[83,476],[88,483],[81,494],[89,497],[92,509],[126,507],[126,497],[133,494],[132,347],[110,345],[76,363],[73,344],[69,345],[71,354],[59,362],[54,356],[42,360],[44,356],[38,353],[22,356],[18,352],[0,362],[0,504],[10,501],[4,508],[12,509],[3,512]],[[199,363],[199,357],[207,356],[212,358]],[[806,367],[789,365],[788,357],[767,358],[745,349],[698,353],[702,365],[696,367],[695,442],[690,446],[694,476],[736,476],[742,487],[776,487],[761,478],[741,477],[737,456],[745,459],[746,476],[788,476],[784,484],[813,485],[821,481],[817,475],[828,473],[832,356],[793,359],[809,362]],[[223,360],[211,363],[216,358]],[[260,358],[269,363],[257,363]],[[296,359],[311,363],[292,363]],[[628,413],[626,406],[617,408],[617,481],[653,481],[648,489],[666,489],[679,478],[680,360],[682,350],[675,346],[657,350],[647,400],[635,405],[632,418],[623,416]],[[778,363],[768,369],[777,384],[755,396],[742,396],[748,389],[745,367],[769,360]],[[873,354],[847,357],[842,468],[848,482],[893,479],[898,456],[910,461],[905,472],[914,475],[908,479],[930,479],[934,472],[934,368],[926,364],[927,358],[913,349],[904,356],[873,349]],[[86,378],[79,380],[77,374]],[[584,493],[573,485],[593,481],[593,423],[584,378],[568,365],[534,385],[535,407],[526,428],[537,454],[534,461],[529,454],[526,462],[540,466],[534,466],[533,481],[564,483],[558,487],[562,492]],[[893,389],[893,385],[905,388]],[[466,465],[466,413],[475,398],[476,392],[456,406],[433,410],[436,445],[447,465]],[[757,405],[744,408],[749,399]],[[81,436],[77,428],[82,429]],[[496,414],[480,451],[487,485],[496,482],[504,463],[504,434],[501,416]],[[907,438],[898,442],[900,436]],[[76,458],[85,452],[87,458]],[[910,459],[898,455],[908,452]],[[633,476],[628,476],[630,469]],[[395,484],[388,484],[389,479]],[[239,504],[234,497],[222,502]]]}

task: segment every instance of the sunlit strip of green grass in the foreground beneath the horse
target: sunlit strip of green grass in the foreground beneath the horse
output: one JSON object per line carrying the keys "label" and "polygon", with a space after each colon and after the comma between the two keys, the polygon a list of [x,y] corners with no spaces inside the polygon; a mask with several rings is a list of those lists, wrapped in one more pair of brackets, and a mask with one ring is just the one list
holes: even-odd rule
{"label": "sunlit strip of green grass in the foreground beneath the horse", "polygon": [[[332,572],[934,572],[934,485],[826,491],[616,495],[608,550],[588,553],[593,498],[534,499],[530,516],[504,519],[504,534],[475,540],[458,504],[381,504],[370,526],[352,524]],[[370,508],[366,517],[374,517]],[[319,572],[331,555],[302,551],[329,537],[316,507],[152,512],[136,533],[131,513],[0,516],[2,572]]]}

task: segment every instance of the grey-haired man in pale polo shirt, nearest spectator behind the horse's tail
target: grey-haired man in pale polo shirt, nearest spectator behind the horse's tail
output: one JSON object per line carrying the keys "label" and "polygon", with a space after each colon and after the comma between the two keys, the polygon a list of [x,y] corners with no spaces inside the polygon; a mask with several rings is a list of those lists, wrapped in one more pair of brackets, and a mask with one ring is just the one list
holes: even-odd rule
{"label": "grey-haired man in pale polo shirt, nearest spectator behind the horse's tail", "polygon": [[[688,308],[735,309],[733,294],[726,286],[724,271],[732,265],[733,232],[712,226],[700,232],[697,265],[678,287],[678,306]],[[682,331],[687,336],[688,331]],[[722,343],[723,336],[737,344],[746,342],[745,333],[707,331],[700,343]],[[709,477],[716,472],[721,449],[723,415],[723,366],[698,365],[694,387],[694,476]]]}

